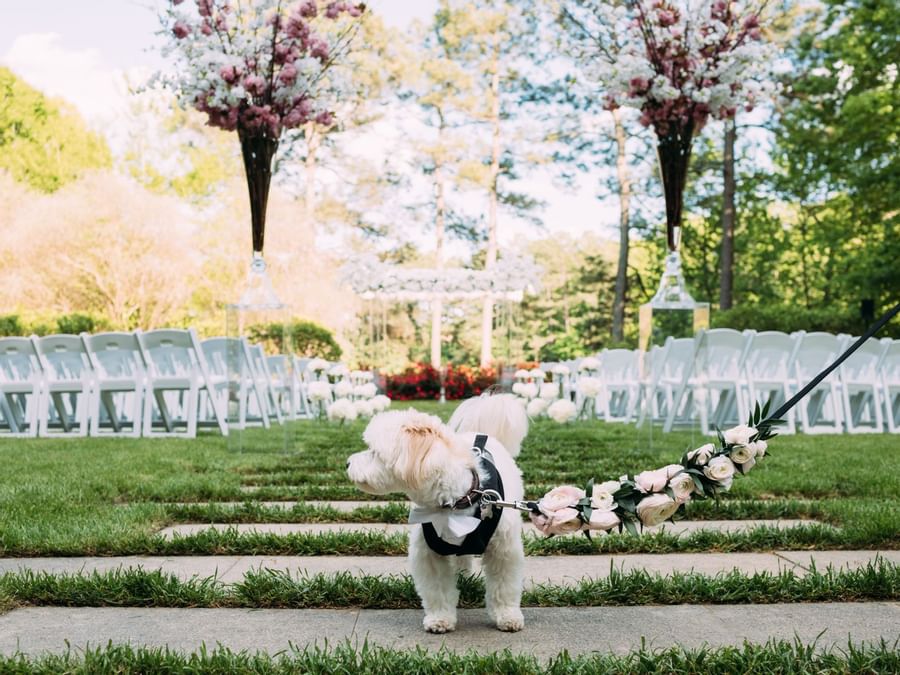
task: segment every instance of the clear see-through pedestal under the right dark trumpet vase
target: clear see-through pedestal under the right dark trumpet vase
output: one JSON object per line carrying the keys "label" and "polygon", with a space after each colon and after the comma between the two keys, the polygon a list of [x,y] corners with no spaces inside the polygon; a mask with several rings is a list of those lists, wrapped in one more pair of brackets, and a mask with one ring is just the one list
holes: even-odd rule
{"label": "clear see-through pedestal under the right dark trumpet vase", "polygon": [[[686,360],[679,363],[670,358],[665,373],[660,372],[660,356],[666,340],[669,337],[676,340],[690,338],[708,327],[709,303],[697,302],[688,293],[681,273],[681,255],[677,250],[670,250],[659,288],[650,302],[641,305],[638,318],[641,389],[644,394],[640,402],[638,426],[646,429],[641,433],[642,444],[653,446],[654,426],[664,425],[670,413],[669,405],[673,399],[666,394],[665,387],[671,387],[671,393],[677,397],[684,369],[689,368],[694,374],[705,370],[694,350],[687,349]],[[682,353],[680,348],[678,353]],[[697,427],[696,415],[690,414],[690,410],[695,403],[688,400],[687,395],[683,396],[680,401],[683,410],[676,412],[673,425],[673,430],[690,429],[692,442]]]}

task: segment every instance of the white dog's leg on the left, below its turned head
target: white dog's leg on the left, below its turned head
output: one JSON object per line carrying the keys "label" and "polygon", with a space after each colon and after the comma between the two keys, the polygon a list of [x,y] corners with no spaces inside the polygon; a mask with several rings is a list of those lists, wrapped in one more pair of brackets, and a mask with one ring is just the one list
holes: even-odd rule
{"label": "white dog's leg on the left, below its turned head", "polygon": [[422,622],[425,630],[429,633],[455,630],[459,603],[455,556],[441,556],[432,551],[425,543],[422,528],[413,527],[409,533],[409,566],[425,609]]}

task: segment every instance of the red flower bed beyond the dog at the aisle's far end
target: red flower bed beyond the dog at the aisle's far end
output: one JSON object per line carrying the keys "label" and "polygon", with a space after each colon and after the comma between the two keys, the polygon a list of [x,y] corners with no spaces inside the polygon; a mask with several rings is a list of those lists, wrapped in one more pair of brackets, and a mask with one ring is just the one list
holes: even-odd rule
{"label": "red flower bed beyond the dog at the aisle's far end", "polygon": [[[448,400],[478,396],[497,383],[492,368],[469,368],[447,365],[444,394]],[[385,392],[395,401],[438,400],[441,397],[441,374],[427,363],[416,363],[402,373],[385,377]]]}

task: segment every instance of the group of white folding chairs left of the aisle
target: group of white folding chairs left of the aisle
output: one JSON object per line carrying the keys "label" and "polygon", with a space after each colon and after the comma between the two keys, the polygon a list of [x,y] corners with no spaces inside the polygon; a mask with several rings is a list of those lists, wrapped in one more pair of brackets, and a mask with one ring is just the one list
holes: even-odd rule
{"label": "group of white folding chairs left of the aisle", "polygon": [[311,415],[305,363],[193,329],[0,338],[0,433],[194,437]]}

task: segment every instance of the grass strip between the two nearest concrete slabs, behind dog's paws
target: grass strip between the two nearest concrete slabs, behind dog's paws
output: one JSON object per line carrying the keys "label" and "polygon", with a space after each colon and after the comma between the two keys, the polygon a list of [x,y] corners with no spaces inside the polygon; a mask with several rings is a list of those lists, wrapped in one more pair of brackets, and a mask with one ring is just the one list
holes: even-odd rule
{"label": "grass strip between the two nearest concrete slabs, behind dog's paws", "polygon": [[[460,606],[482,607],[480,575],[460,575]],[[611,605],[771,604],[860,602],[900,599],[900,565],[883,560],[855,570],[790,570],[752,575],[732,570],[715,576],[651,574],[611,569],[608,577],[573,585],[542,584],[526,590],[528,607]],[[249,607],[408,609],[420,606],[408,575],[293,575],[286,571],[248,572],[234,584],[214,577],[180,580],[159,570],[125,569],[92,574],[11,572],[0,576],[0,606],[66,607]]]}

